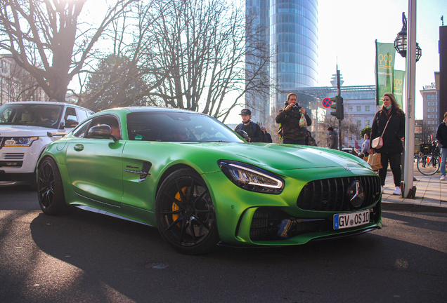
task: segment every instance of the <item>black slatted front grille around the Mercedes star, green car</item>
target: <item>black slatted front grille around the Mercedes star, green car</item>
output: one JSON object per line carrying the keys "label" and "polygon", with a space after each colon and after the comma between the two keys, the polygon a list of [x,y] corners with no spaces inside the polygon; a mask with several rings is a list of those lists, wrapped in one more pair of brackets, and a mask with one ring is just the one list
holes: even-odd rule
{"label": "black slatted front grille around the Mercedes star, green car", "polygon": [[[348,198],[348,187],[354,180],[360,181],[365,191],[365,201],[358,208]],[[378,176],[338,177],[307,183],[299,193],[297,206],[302,210],[349,211],[372,206],[379,198]]]}

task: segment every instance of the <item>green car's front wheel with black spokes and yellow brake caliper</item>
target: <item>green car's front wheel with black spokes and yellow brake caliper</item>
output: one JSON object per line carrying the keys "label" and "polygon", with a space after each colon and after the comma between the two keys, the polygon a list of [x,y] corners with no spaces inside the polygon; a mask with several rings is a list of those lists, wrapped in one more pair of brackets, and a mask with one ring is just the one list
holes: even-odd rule
{"label": "green car's front wheel with black spokes and yellow brake caliper", "polygon": [[214,205],[195,170],[182,168],[164,180],[157,192],[155,215],[162,238],[180,253],[209,253],[219,242]]}

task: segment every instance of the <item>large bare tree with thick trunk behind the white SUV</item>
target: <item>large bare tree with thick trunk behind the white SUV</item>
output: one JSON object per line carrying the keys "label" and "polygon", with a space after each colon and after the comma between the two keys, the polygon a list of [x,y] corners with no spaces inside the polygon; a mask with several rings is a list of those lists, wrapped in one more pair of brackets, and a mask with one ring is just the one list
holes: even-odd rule
{"label": "large bare tree with thick trunk behind the white SUV", "polygon": [[0,0],[0,48],[13,55],[50,99],[63,101],[95,43],[134,1],[117,0],[98,26],[82,31],[78,19],[86,0]]}

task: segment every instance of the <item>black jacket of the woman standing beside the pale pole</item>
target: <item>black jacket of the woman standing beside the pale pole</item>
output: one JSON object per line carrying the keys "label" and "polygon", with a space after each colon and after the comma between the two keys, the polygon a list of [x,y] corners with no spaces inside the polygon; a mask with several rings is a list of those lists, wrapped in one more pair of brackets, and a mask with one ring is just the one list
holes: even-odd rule
{"label": "black jacket of the woman standing beside the pale pole", "polygon": [[[405,116],[399,115],[396,109],[391,109],[391,119],[389,120],[387,129],[385,130],[383,138],[383,146],[380,149],[375,149],[376,152],[382,154],[395,154],[403,152],[402,138],[405,136]],[[372,148],[372,141],[376,137],[380,137],[387,125],[387,114],[380,109],[374,116],[372,121],[370,144]]]}

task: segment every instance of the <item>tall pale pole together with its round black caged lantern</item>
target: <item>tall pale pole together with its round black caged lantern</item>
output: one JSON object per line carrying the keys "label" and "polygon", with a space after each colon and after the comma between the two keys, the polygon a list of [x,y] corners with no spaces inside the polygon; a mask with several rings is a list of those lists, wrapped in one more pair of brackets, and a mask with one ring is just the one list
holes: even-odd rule
{"label": "tall pale pole together with its round black caged lantern", "polygon": [[[408,0],[408,27],[405,13],[402,13],[402,29],[394,40],[394,48],[406,57],[406,130],[403,172],[403,198],[414,198],[413,169],[415,153],[415,69],[416,62],[422,56],[422,50],[416,43],[416,0]],[[408,35],[407,35],[408,29]],[[407,52],[408,50],[408,52]]]}

